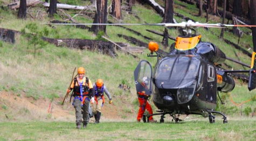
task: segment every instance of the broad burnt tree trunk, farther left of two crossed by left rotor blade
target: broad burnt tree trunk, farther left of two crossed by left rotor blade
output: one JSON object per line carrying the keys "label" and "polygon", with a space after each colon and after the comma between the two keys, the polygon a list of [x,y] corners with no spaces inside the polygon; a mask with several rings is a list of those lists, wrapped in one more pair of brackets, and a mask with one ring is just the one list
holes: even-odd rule
{"label": "broad burnt tree trunk, farther left of two crossed by left rotor blade", "polygon": [[[94,16],[93,23],[105,24],[107,23],[107,0],[96,0],[96,13]],[[98,33],[104,31],[106,33],[106,25],[92,25],[91,31]]]}

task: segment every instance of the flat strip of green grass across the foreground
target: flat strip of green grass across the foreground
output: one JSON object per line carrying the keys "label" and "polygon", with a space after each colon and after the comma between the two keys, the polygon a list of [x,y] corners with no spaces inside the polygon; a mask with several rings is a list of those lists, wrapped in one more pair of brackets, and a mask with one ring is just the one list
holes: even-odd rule
{"label": "flat strip of green grass across the foreground", "polygon": [[255,120],[210,124],[207,119],[175,123],[105,122],[75,129],[71,122],[0,123],[1,140],[254,140]]}

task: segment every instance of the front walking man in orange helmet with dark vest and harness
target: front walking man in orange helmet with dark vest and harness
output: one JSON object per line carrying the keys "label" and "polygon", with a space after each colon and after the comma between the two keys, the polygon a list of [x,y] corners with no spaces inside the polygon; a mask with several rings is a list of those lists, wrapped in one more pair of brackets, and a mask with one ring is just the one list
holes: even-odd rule
{"label": "front walking man in orange helmet with dark vest and harness", "polygon": [[[91,80],[85,76],[85,68],[78,68],[78,77],[75,77],[70,89],[73,89],[74,101],[73,105],[75,108],[75,123],[77,124],[77,129],[81,128],[81,119],[83,118],[83,128],[86,128],[89,121],[89,103],[94,102],[94,89]],[[91,98],[92,97],[92,98]]]}

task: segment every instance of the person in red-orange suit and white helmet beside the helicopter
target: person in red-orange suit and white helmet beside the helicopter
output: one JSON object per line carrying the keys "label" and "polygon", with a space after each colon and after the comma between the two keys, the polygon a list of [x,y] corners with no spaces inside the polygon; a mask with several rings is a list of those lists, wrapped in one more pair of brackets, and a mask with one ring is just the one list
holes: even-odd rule
{"label": "person in red-orange suit and white helmet beside the helicopter", "polygon": [[[147,87],[147,85],[149,83],[148,81],[149,81],[148,77],[143,77],[141,85],[145,89],[148,89],[148,87]],[[150,115],[153,114],[153,110],[151,108],[151,105],[148,103],[149,96],[146,94],[145,91],[137,91],[137,95],[138,95],[138,100],[140,103],[140,109],[139,109],[139,112],[137,115],[137,122],[140,122],[146,109],[148,110]],[[148,119],[149,119],[149,122],[156,122],[156,121],[154,121],[153,116],[150,116]]]}

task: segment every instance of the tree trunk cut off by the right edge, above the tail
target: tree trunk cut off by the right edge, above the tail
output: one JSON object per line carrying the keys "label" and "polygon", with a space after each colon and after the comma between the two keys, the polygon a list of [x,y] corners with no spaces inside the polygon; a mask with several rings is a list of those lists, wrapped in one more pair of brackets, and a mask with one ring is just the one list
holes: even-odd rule
{"label": "tree trunk cut off by the right edge, above the tail", "polygon": [[[256,25],[256,0],[250,1],[251,24]],[[253,51],[256,52],[256,27],[252,27]]]}

